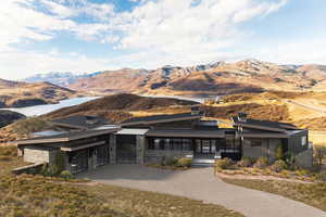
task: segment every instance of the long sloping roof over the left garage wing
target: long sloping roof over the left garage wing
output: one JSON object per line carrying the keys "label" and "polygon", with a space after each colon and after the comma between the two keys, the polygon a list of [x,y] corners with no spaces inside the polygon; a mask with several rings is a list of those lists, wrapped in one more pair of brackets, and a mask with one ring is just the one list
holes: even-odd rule
{"label": "long sloping roof over the left garage wing", "polygon": [[55,143],[55,142],[68,142],[68,141],[74,141],[74,140],[78,140],[78,139],[89,138],[89,137],[113,133],[118,130],[120,130],[120,128],[111,128],[111,129],[105,129],[105,130],[71,131],[71,132],[65,132],[65,133],[61,133],[61,135],[17,140],[17,141],[13,141],[10,143],[20,145],[20,144],[45,144],[45,143]]}

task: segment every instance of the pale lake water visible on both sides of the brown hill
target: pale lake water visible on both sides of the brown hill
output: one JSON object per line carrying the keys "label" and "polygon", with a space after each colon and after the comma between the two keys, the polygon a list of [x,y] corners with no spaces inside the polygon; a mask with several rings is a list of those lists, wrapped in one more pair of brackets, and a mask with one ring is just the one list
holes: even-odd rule
{"label": "pale lake water visible on both sides of the brown hill", "polygon": [[[195,101],[198,103],[202,103],[204,101],[204,98],[187,98],[187,97],[179,97],[179,95],[142,95],[142,97],[172,98],[172,99],[179,99],[179,100],[190,100],[190,101]],[[3,108],[3,110],[18,112],[21,114],[26,115],[27,117],[30,117],[30,116],[43,115],[43,114],[47,114],[47,113],[50,113],[50,112],[53,112],[55,110],[60,110],[63,107],[78,105],[84,102],[88,102],[88,101],[91,101],[91,100],[95,100],[98,98],[99,97],[74,98],[74,99],[70,99],[70,100],[60,101],[60,103],[58,103],[58,104],[35,105],[35,106],[28,106],[28,107]]]}

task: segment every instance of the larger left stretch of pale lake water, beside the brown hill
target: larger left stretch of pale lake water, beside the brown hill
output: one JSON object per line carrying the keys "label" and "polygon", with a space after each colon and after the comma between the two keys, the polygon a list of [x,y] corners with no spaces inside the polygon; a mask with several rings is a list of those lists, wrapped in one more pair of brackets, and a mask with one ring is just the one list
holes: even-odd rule
{"label": "larger left stretch of pale lake water, beside the brown hill", "polygon": [[68,100],[62,100],[58,104],[35,105],[35,106],[28,106],[28,107],[17,107],[17,108],[14,107],[14,108],[4,108],[4,110],[18,112],[21,114],[26,115],[27,117],[30,117],[30,116],[43,115],[43,114],[53,112],[55,110],[60,110],[62,107],[78,105],[84,102],[95,100],[98,97],[74,98],[74,99],[68,99]]}

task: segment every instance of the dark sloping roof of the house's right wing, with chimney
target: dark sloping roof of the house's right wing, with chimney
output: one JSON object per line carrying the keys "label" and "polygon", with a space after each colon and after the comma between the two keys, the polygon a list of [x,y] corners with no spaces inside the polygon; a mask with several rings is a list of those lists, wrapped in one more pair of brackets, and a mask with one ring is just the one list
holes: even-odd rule
{"label": "dark sloping roof of the house's right wing, with chimney", "polygon": [[267,131],[286,132],[287,130],[298,130],[298,128],[294,125],[288,123],[259,120],[259,119],[251,119],[251,118],[247,118],[246,120],[240,120],[238,117],[233,117],[231,120],[235,126],[242,126],[242,127],[262,129]]}

